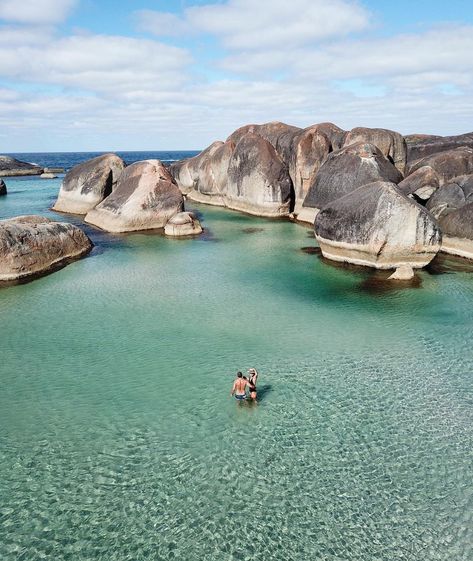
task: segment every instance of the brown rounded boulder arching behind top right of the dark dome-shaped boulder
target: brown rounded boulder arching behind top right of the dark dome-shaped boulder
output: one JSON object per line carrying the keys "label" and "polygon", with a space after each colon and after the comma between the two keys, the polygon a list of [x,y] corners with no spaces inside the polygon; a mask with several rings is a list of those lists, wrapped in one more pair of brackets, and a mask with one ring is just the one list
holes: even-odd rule
{"label": "brown rounded boulder arching behind top right of the dark dome-shaped boulder", "polygon": [[398,132],[388,129],[357,127],[346,135],[343,146],[357,142],[374,144],[402,174],[405,173],[407,146],[404,137]]}

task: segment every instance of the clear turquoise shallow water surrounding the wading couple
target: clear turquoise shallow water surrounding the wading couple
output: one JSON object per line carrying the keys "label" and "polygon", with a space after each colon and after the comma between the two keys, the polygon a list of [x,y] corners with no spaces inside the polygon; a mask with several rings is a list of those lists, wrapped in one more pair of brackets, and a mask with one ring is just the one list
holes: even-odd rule
{"label": "clear turquoise shallow water surrounding the wading couple", "polygon": [[[7,185],[2,217],[53,215],[59,180]],[[0,290],[0,559],[471,561],[468,267],[385,290],[302,226],[195,208],[201,238],[89,228]]]}

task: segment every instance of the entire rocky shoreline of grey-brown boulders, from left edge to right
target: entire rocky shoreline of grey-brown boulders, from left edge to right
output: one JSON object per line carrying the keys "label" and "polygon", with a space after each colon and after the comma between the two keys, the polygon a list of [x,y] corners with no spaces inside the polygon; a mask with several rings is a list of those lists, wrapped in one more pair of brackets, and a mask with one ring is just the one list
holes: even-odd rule
{"label": "entire rocky shoreline of grey-brown boulders, from left edge to right", "polygon": [[[9,157],[0,157],[0,169],[44,173]],[[473,133],[403,137],[332,123],[246,125],[169,167],[159,160],[126,166],[116,154],[83,162],[66,174],[53,210],[112,233],[199,235],[186,199],[306,222],[325,258],[394,269],[391,279],[406,280],[439,251],[473,259]],[[0,280],[37,275],[90,251],[85,234],[66,226],[41,217],[0,222],[2,266],[10,267]],[[81,248],[71,249],[81,235]],[[28,261],[31,248],[37,260]]]}

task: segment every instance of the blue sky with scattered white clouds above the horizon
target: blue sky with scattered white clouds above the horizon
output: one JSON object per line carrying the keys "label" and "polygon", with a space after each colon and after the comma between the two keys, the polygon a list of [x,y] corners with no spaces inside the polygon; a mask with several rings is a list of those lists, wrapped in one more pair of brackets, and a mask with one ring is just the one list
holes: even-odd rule
{"label": "blue sky with scattered white clouds above the horizon", "polygon": [[472,0],[0,0],[0,153],[473,130]]}

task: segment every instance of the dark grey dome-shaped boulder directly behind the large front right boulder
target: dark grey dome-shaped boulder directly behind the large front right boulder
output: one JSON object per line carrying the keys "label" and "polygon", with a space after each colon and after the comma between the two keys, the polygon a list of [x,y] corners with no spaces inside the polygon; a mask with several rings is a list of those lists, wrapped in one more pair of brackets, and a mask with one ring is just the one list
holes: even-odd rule
{"label": "dark grey dome-shaped boulder directly behind the large front right boulder", "polygon": [[329,154],[307,192],[303,208],[321,209],[367,183],[398,183],[401,179],[401,172],[379,148],[365,142],[350,144]]}

